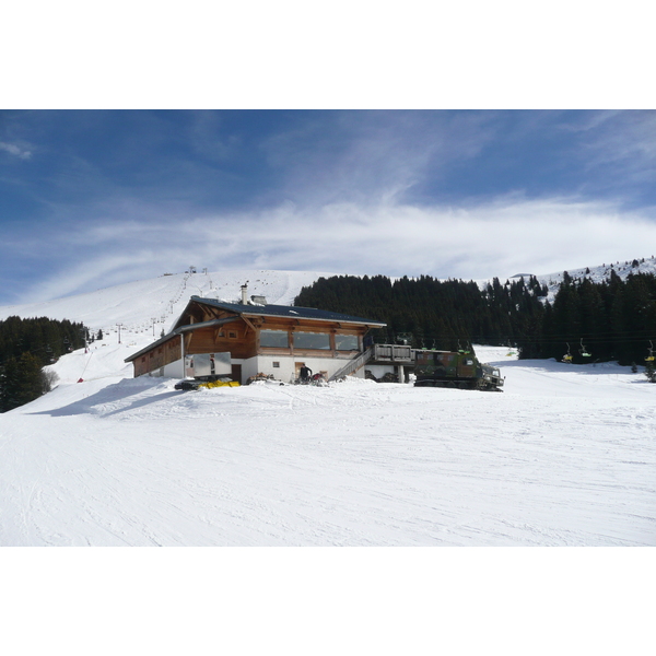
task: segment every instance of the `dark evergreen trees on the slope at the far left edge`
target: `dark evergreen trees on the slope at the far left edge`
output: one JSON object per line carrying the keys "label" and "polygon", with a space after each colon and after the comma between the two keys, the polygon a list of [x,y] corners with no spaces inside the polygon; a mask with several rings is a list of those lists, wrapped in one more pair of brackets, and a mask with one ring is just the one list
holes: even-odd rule
{"label": "dark evergreen trees on the slope at the far left edge", "polygon": [[0,320],[0,412],[38,398],[51,387],[43,367],[80,349],[89,337],[83,324],[46,317]]}

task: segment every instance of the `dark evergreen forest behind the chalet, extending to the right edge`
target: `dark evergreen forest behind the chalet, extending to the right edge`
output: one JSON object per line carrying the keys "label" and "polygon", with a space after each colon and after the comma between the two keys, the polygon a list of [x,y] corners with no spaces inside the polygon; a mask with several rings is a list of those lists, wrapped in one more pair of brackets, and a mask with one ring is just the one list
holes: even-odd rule
{"label": "dark evergreen forest behind the chalet, extending to the right edge", "polygon": [[[565,272],[553,302],[537,278],[484,288],[430,276],[391,281],[385,276],[320,278],[305,286],[295,305],[331,309],[387,323],[374,341],[407,341],[445,351],[472,343],[508,345],[519,358],[555,358],[575,363],[644,362],[656,344],[656,278],[611,271],[608,282],[572,279]],[[587,353],[587,355],[585,355]]]}

